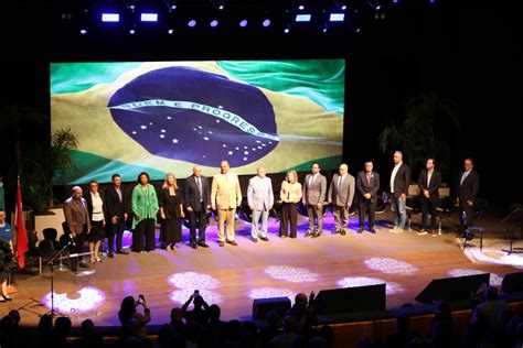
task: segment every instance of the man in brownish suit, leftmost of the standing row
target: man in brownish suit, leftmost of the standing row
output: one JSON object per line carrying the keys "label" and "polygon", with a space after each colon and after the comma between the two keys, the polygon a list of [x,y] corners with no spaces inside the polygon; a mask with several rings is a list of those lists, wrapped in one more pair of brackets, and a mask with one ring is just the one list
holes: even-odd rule
{"label": "man in brownish suit, leftmost of the standing row", "polygon": [[[71,251],[81,253],[84,247],[85,235],[90,232],[89,215],[87,213],[87,202],[84,199],[82,188],[74,186],[70,198],[64,202],[65,222],[74,240],[74,247]],[[71,260],[71,271],[76,272],[77,265],[87,268],[87,264],[82,261],[82,257]]]}

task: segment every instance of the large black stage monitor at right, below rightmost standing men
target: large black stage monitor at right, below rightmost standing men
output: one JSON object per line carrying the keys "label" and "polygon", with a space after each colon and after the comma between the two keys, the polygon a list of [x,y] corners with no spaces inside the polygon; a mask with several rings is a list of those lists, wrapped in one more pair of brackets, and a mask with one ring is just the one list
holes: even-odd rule
{"label": "large black stage monitor at right, below rightmost standing men", "polygon": [[416,296],[416,301],[423,304],[434,304],[440,300],[466,301],[470,298],[470,293],[477,292],[482,283],[489,285],[490,273],[436,279]]}

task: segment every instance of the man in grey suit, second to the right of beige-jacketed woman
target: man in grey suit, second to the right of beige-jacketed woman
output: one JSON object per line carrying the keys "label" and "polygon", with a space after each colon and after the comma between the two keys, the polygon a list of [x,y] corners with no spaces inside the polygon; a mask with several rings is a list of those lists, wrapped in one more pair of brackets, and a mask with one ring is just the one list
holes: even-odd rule
{"label": "man in grey suit, second to the right of beige-jacketed woman", "polygon": [[334,174],[329,186],[328,202],[332,204],[335,230],[333,233],[345,236],[349,222],[349,209],[354,198],[354,176],[349,174],[349,166],[341,164],[339,174]]}

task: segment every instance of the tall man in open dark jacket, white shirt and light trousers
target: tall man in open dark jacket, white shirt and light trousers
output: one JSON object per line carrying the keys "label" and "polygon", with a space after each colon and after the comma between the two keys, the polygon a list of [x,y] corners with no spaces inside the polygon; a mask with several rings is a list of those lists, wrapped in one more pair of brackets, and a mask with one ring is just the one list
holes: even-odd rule
{"label": "tall man in open dark jacket, white shirt and light trousers", "polygon": [[391,233],[401,233],[405,229],[407,208],[405,206],[410,184],[410,167],[403,163],[403,153],[394,152],[394,167],[391,173],[391,202],[394,209],[394,228]]}

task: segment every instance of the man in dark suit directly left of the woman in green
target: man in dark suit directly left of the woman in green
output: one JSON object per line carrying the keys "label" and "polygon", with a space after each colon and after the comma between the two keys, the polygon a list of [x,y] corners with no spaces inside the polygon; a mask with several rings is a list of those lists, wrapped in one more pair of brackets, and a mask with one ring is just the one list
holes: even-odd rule
{"label": "man in dark suit directly left of the woman in green", "polygon": [[126,229],[127,216],[130,210],[129,195],[121,187],[119,174],[113,174],[113,185],[108,185],[104,193],[104,203],[107,211],[107,241],[109,243],[109,258],[114,258],[114,244],[116,236],[116,253],[128,254],[121,247],[124,230]]}

